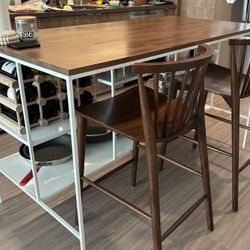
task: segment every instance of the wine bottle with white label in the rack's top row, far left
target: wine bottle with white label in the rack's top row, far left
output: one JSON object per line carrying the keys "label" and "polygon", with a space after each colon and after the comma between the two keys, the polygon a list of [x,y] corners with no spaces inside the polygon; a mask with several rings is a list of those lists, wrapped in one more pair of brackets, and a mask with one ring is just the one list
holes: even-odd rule
{"label": "wine bottle with white label in the rack's top row, far left", "polygon": [[[6,59],[0,59],[0,73],[17,79],[16,63]],[[34,74],[31,68],[22,66],[23,79],[33,78]]]}

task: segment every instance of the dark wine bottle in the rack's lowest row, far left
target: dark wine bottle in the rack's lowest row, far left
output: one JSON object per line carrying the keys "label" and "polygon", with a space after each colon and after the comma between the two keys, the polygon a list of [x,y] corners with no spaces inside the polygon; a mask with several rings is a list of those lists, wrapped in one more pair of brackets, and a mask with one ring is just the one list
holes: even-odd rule
{"label": "dark wine bottle in the rack's lowest row, far left", "polygon": [[[4,106],[1,104],[1,111],[3,114],[11,118],[12,120],[17,122],[17,115],[16,112],[13,111],[12,109]],[[38,122],[39,120],[39,107],[37,104],[30,105],[28,106],[28,114],[29,114],[29,122],[30,124],[34,124]],[[24,126],[24,117],[23,114],[21,113],[21,124]]]}

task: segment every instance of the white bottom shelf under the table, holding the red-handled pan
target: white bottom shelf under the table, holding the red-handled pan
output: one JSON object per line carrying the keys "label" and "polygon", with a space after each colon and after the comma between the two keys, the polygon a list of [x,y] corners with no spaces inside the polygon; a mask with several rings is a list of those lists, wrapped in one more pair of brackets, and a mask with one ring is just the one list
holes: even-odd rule
{"label": "white bottom shelf under the table, holding the red-handled pan", "polygon": [[[117,156],[130,152],[132,142],[125,138],[117,138]],[[112,161],[112,141],[89,143],[86,148],[85,175],[105,167]],[[19,182],[30,171],[30,162],[22,158],[19,153],[0,159],[0,173],[16,184],[27,195],[36,200],[33,179],[22,187]],[[41,167],[38,172],[41,199],[48,199],[74,183],[73,163],[69,160],[59,165]]]}

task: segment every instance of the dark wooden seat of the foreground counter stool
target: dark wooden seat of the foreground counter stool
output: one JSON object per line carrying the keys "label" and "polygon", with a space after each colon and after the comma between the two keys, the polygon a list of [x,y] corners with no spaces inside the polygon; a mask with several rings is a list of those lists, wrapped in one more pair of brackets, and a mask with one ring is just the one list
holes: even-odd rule
{"label": "dark wooden seat of the foreground counter stool", "polygon": [[[154,91],[146,88],[150,96],[150,106],[153,110]],[[160,120],[164,119],[164,101],[166,96],[160,96]],[[173,102],[174,106],[174,102]],[[111,99],[96,102],[77,109],[78,114],[112,129],[118,134],[124,135],[137,142],[144,141],[142,117],[140,109],[140,97],[138,86],[133,87]]]}

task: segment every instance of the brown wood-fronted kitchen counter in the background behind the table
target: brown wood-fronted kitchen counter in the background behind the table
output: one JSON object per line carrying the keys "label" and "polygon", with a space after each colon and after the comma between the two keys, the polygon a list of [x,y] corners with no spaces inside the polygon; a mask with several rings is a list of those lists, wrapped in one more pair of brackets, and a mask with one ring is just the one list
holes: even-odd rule
{"label": "brown wood-fronted kitchen counter in the background behind the table", "polygon": [[[171,2],[147,4],[133,7],[105,7],[96,5],[76,6],[73,11],[37,12],[28,15],[36,16],[38,28],[56,28],[64,26],[112,22],[129,19],[141,19],[156,16],[175,15],[176,5]],[[11,13],[11,25],[15,27],[16,16],[23,13]],[[27,15],[27,14],[25,14]]]}

